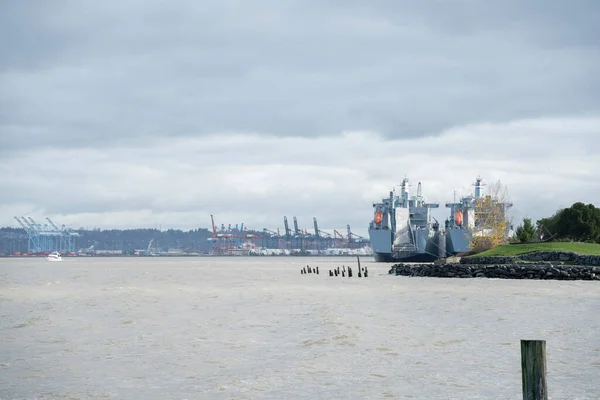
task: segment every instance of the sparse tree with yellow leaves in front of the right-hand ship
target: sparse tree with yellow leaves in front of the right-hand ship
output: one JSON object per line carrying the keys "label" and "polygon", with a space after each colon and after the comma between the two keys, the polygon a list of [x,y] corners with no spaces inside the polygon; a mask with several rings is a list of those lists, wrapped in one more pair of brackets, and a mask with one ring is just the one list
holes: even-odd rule
{"label": "sparse tree with yellow leaves in front of the right-hand ship", "polygon": [[474,199],[475,223],[471,232],[471,248],[475,252],[491,249],[508,242],[511,219],[506,188],[500,181],[488,185],[488,194]]}

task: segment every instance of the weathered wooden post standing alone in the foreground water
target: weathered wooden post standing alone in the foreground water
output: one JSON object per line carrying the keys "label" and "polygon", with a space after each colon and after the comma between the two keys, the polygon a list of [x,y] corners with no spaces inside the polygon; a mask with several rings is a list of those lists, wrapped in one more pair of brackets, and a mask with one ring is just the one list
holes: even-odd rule
{"label": "weathered wooden post standing alone in the foreground water", "polygon": [[521,340],[523,400],[548,400],[546,341]]}

